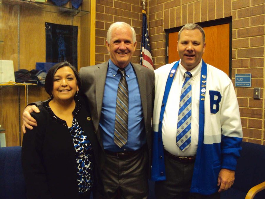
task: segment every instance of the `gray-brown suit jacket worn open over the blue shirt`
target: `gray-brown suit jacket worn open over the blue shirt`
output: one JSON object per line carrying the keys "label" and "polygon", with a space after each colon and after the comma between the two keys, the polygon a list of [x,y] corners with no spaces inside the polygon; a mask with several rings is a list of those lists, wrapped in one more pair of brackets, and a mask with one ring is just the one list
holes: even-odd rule
{"label": "gray-brown suit jacket worn open over the blue shirt", "polygon": [[[149,168],[151,167],[151,121],[153,114],[154,102],[154,81],[155,74],[152,70],[138,64],[132,64],[140,87],[141,102],[143,107],[143,116],[145,122],[145,132],[149,154]],[[83,67],[79,71],[82,82],[82,91],[88,101],[88,105],[92,114],[92,120],[97,134],[97,138],[103,149],[102,140],[100,139],[100,114],[102,109],[103,93],[108,69],[108,61],[102,64]],[[114,133],[114,132],[113,132]],[[130,133],[130,132],[129,132]],[[104,150],[103,150],[104,151]],[[104,157],[104,155],[103,155]],[[102,160],[101,166],[104,164]]]}

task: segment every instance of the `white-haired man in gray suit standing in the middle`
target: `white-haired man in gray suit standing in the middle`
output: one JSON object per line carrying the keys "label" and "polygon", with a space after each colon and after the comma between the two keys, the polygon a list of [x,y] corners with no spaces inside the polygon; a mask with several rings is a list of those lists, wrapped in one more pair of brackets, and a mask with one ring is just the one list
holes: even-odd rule
{"label": "white-haired man in gray suit standing in the middle", "polygon": [[[130,63],[136,49],[134,29],[116,22],[107,32],[110,60],[80,69],[82,88],[92,114],[95,133],[104,154],[101,174],[109,198],[147,198],[151,161],[151,117],[154,99],[154,72]],[[116,98],[119,81],[125,69],[128,86],[128,122],[126,144],[115,143]],[[36,125],[28,107],[23,113],[24,126]],[[100,198],[100,194],[98,198]]]}

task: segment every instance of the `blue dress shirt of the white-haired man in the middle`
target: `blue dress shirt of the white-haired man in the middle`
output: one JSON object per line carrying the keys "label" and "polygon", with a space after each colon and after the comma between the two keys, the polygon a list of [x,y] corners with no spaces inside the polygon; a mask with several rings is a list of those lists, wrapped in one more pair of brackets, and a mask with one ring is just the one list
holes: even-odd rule
{"label": "blue dress shirt of the white-haired man in the middle", "polygon": [[114,143],[116,98],[121,74],[118,67],[109,60],[109,67],[105,81],[102,111],[100,116],[100,131],[105,150],[112,152],[134,151],[146,143],[143,107],[140,88],[136,73],[129,63],[124,69],[129,89],[128,141],[122,147]]}

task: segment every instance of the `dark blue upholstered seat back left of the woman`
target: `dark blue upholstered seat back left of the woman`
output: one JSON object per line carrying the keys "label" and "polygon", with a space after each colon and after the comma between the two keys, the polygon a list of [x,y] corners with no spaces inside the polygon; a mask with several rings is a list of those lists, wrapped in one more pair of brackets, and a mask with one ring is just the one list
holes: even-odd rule
{"label": "dark blue upholstered seat back left of the woman", "polygon": [[0,198],[26,199],[21,147],[0,148]]}

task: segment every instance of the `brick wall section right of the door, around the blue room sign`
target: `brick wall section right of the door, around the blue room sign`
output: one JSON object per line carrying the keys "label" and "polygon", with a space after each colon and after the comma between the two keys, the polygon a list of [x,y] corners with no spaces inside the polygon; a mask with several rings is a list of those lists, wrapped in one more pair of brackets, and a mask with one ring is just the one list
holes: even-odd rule
{"label": "brick wall section right of the door, around the blue room sign", "polygon": [[[232,1],[232,77],[251,73],[251,88],[236,88],[244,140],[265,145],[264,137],[264,0]],[[261,88],[260,100],[253,99]]]}

